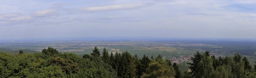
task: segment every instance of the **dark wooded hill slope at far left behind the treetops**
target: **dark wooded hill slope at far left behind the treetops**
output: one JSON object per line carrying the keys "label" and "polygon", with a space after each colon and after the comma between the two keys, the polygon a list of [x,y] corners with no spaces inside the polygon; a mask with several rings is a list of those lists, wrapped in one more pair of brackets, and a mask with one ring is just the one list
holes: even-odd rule
{"label": "dark wooded hill slope at far left behind the treetops", "polygon": [[[12,55],[14,54],[19,54],[20,50],[12,50],[12,49],[5,49],[5,48],[0,48],[0,52],[6,52],[6,53],[10,53]],[[38,51],[34,51],[34,50],[29,50],[29,49],[22,49],[22,51],[26,54],[32,54]]]}

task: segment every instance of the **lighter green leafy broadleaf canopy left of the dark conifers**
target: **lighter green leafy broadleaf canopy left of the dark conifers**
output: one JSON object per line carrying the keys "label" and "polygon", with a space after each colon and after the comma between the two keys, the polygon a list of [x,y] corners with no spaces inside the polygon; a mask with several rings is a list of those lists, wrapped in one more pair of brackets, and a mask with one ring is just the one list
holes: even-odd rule
{"label": "lighter green leafy broadleaf canopy left of the dark conifers", "polygon": [[[71,53],[53,56],[44,53],[11,54],[0,52],[0,78],[117,78],[117,72],[101,59]],[[56,52],[56,51],[55,51]]]}

